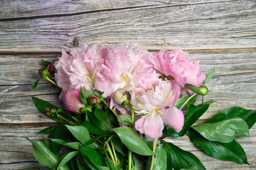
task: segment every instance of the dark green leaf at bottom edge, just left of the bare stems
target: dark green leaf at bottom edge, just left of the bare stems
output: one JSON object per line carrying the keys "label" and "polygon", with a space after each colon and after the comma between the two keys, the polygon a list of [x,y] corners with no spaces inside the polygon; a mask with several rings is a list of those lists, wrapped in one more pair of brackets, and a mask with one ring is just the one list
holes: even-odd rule
{"label": "dark green leaf at bottom edge, just left of the bare stems", "polygon": [[96,150],[94,150],[88,146],[80,147],[80,150],[81,150],[83,157],[89,158],[90,161],[92,162],[92,164],[95,167],[97,167],[99,170],[110,170],[107,167],[104,157],[99,152],[97,152]]}

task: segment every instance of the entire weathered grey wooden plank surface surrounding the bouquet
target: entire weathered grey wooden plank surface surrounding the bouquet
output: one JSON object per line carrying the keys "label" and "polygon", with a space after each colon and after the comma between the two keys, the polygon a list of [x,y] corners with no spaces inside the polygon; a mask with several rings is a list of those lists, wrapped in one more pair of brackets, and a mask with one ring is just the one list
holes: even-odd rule
{"label": "entire weathered grey wooden plank surface surrounding the bouquet", "polygon": [[[40,59],[93,42],[137,42],[150,51],[180,47],[198,58],[202,72],[216,68],[207,99],[216,102],[198,123],[227,107],[256,110],[255,0],[1,0],[0,1],[0,169],[47,169],[25,137],[55,125],[36,110],[31,96],[62,107],[59,90],[36,81]],[[187,136],[168,141],[195,154],[207,170],[255,170],[256,125],[237,138],[250,165],[220,161],[198,149]]]}

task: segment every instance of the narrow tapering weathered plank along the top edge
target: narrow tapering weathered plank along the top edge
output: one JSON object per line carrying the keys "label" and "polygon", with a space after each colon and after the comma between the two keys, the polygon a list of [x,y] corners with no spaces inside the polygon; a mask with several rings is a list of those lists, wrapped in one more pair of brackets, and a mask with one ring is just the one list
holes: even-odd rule
{"label": "narrow tapering weathered plank along the top edge", "polygon": [[[217,2],[234,1],[234,0],[218,0]],[[144,1],[144,0],[111,0],[111,1],[70,1],[70,0],[40,0],[35,3],[31,0],[2,0],[0,6],[0,20],[6,20],[11,18],[26,19],[28,17],[45,17],[45,16],[56,16],[56,15],[67,15],[67,14],[79,14],[79,13],[92,13],[97,11],[110,11],[118,9],[128,8],[145,8],[148,6],[163,7],[166,6],[177,6],[177,5],[191,5],[191,4],[202,4],[202,3],[213,3],[216,0],[172,0],[166,2],[165,0],[157,1]]]}

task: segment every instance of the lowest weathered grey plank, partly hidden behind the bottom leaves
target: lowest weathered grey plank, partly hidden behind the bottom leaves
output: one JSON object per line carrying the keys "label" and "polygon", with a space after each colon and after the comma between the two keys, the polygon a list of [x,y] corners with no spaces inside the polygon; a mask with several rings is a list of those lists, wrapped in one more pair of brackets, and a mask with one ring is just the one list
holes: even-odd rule
{"label": "lowest weathered grey plank, partly hidden behind the bottom leaves", "polygon": [[[41,140],[42,134],[36,134],[42,128],[18,128],[18,129],[1,129],[0,128],[0,168],[18,170],[22,168],[42,168],[44,166],[38,164],[34,158],[32,152],[32,145],[25,137],[31,140]],[[187,136],[180,138],[168,138],[166,141],[171,142],[183,150],[192,152],[195,154],[204,164],[207,170],[220,170],[220,169],[232,169],[232,170],[254,170],[256,168],[256,125],[249,130],[251,137],[236,138],[237,141],[244,148],[248,162],[250,165],[241,165],[233,161],[220,161],[212,158],[201,149],[197,148]],[[65,148],[63,148],[65,151]],[[64,152],[63,151],[63,152]]]}

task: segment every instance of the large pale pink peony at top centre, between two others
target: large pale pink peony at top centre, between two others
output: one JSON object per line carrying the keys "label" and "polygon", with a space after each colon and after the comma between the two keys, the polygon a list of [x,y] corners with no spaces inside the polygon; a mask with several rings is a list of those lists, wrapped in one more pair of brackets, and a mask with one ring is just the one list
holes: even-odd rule
{"label": "large pale pink peony at top centre, between two others", "polygon": [[148,55],[152,55],[137,44],[128,42],[110,45],[101,52],[105,61],[97,69],[94,87],[103,92],[105,98],[118,89],[126,89],[132,76],[148,63]]}

